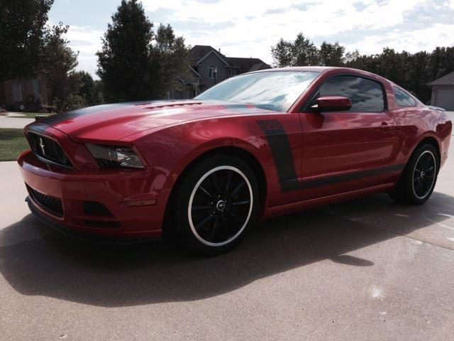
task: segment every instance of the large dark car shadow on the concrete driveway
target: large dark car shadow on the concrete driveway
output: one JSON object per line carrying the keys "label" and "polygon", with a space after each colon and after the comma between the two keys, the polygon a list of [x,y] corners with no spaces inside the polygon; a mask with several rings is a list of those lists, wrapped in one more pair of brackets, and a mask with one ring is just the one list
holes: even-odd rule
{"label": "large dark car shadow on the concrete driveway", "polygon": [[[426,205],[418,207],[395,204],[387,195],[374,195],[263,222],[239,247],[211,258],[192,256],[165,242],[128,247],[84,244],[49,233],[28,215],[0,232],[1,244],[9,244],[0,249],[0,271],[16,291],[25,295],[104,307],[192,301],[326,259],[349,266],[373,266],[370,260],[345,253],[391,239],[396,233],[442,222],[448,217],[439,213],[448,207],[452,213],[454,197],[441,193],[434,193]],[[368,217],[377,210],[380,215],[386,212],[393,232],[327,210],[353,210]],[[413,219],[411,227],[400,224],[400,212],[419,219]],[[21,236],[35,232],[27,229],[38,229],[43,237],[23,241]],[[348,266],[345,269],[348,271]]]}

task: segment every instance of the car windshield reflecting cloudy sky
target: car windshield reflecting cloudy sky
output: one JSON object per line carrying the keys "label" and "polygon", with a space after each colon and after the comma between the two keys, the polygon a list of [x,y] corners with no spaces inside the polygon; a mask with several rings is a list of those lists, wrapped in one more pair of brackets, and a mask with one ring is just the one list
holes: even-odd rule
{"label": "car windshield reflecting cloudy sky", "polygon": [[196,99],[253,104],[255,107],[287,112],[320,72],[272,71],[229,78]]}

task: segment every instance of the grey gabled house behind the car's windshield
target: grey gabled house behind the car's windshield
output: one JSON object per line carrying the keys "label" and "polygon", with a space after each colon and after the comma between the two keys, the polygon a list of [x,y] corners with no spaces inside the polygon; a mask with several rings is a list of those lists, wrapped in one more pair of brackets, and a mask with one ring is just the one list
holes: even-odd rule
{"label": "grey gabled house behind the car's windshield", "polygon": [[171,91],[170,99],[193,98],[228,77],[271,68],[259,58],[226,57],[221,50],[209,45],[195,45],[190,53],[192,65],[189,65],[189,69],[192,80],[180,79],[184,83],[184,90]]}

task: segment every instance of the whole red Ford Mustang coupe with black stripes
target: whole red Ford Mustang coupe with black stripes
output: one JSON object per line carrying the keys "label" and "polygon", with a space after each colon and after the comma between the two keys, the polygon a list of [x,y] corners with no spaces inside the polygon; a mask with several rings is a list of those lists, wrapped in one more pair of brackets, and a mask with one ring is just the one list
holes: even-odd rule
{"label": "whole red Ford Mustang coupe with black stripes", "polygon": [[389,80],[341,67],[232,77],[187,101],[37,121],[19,159],[35,215],[68,233],[176,234],[216,254],[254,221],[370,193],[421,204],[452,123]]}

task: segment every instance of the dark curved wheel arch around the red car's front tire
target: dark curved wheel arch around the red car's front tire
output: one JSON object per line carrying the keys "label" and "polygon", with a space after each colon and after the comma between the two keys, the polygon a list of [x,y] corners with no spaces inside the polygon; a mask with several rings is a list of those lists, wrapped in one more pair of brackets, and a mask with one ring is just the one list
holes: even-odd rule
{"label": "dark curved wheel arch around the red car's front tire", "polygon": [[171,232],[172,230],[172,228],[170,227],[172,220],[171,204],[176,200],[177,190],[181,185],[182,180],[184,180],[184,175],[187,173],[189,168],[194,166],[194,164],[201,162],[205,158],[209,158],[210,156],[218,154],[236,156],[241,160],[245,161],[246,163],[248,163],[248,166],[250,166],[258,182],[260,206],[257,218],[258,220],[262,218],[265,212],[265,203],[267,202],[267,177],[262,164],[260,163],[260,161],[258,161],[258,158],[255,155],[253,155],[253,153],[246,150],[245,148],[241,148],[238,146],[218,146],[211,148],[208,151],[204,151],[199,156],[196,156],[196,158],[192,159],[192,161],[187,163],[187,165],[184,166],[183,170],[179,173],[177,179],[175,180],[172,186],[172,190],[170,191],[170,195],[167,199],[167,203],[165,206],[164,222],[162,224],[162,232],[164,235],[169,234],[169,232]]}

